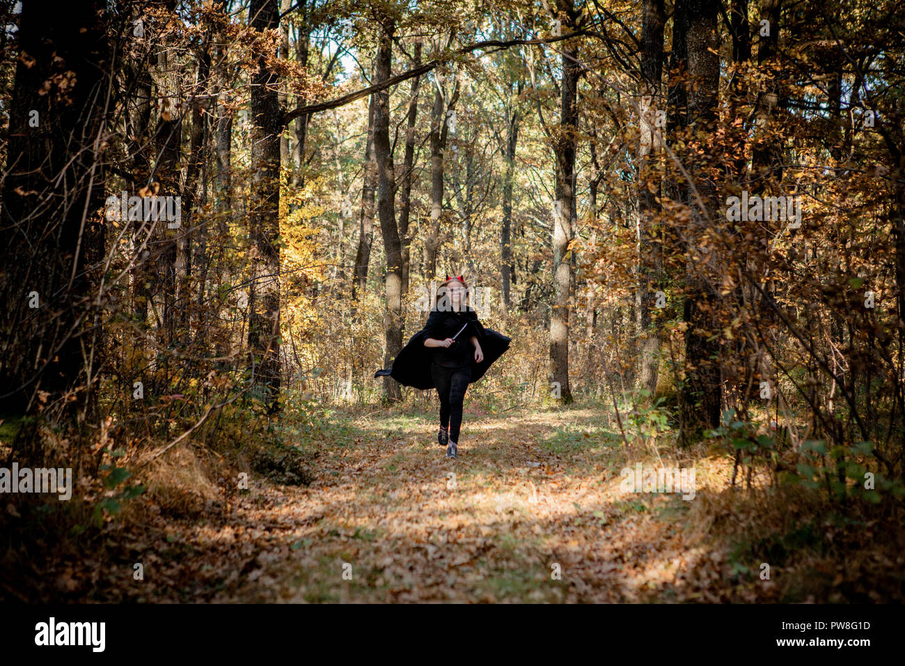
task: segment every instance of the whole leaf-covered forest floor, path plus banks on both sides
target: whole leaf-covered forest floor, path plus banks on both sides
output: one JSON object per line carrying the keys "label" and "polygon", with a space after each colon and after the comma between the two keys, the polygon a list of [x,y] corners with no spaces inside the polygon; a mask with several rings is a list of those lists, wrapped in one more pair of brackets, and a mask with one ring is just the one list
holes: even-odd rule
{"label": "whole leaf-covered forest floor, path plus banks on both sides", "polygon": [[[247,490],[235,489],[225,458],[175,449],[121,522],[82,552],[45,548],[49,561],[33,560],[34,580],[17,589],[114,602],[902,596],[901,530],[836,516],[811,495],[758,488],[757,477],[732,489],[725,454],[697,452],[690,501],[625,492],[629,457],[674,460],[626,449],[599,408],[489,414],[466,405],[456,461],[436,443],[433,412],[370,409],[334,413],[319,439],[300,446],[307,486],[252,473]],[[759,575],[764,562],[770,580]]]}

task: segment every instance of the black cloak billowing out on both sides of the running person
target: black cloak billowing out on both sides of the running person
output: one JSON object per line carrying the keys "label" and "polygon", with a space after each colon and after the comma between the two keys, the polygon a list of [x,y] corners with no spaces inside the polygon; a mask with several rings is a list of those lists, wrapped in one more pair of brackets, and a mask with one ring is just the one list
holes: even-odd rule
{"label": "black cloak billowing out on both sides of the running person", "polygon": [[[395,357],[393,367],[389,370],[378,370],[374,373],[375,377],[386,377],[389,375],[395,381],[403,386],[411,386],[414,389],[433,389],[433,379],[431,379],[431,362],[433,360],[434,348],[425,347],[424,339],[434,337],[431,331],[437,323],[440,323],[447,313],[437,310],[431,311],[431,316],[427,318],[424,328],[415,333],[399,355]],[[469,308],[461,313],[474,324],[477,330],[475,337],[481,344],[481,352],[484,352],[484,360],[480,363],[474,362],[472,356],[472,382],[478,381],[484,376],[484,372],[491,367],[491,364],[503,355],[509,349],[510,338],[484,328],[478,321],[478,315]]]}

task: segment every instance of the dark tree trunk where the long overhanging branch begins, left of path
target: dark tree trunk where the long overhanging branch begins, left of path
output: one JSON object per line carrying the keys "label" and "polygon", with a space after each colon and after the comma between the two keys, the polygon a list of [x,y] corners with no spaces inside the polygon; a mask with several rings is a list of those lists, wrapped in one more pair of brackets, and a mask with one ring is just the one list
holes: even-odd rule
{"label": "dark tree trunk where the long overhanging branch begins, left of path", "polygon": [[[277,0],[252,0],[252,28],[263,31],[279,22]],[[249,201],[253,282],[249,304],[248,346],[253,378],[264,387],[271,410],[280,392],[280,104],[277,76],[258,58],[252,72],[252,184]]]}

